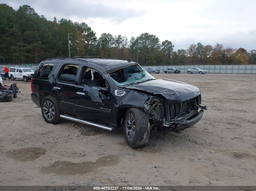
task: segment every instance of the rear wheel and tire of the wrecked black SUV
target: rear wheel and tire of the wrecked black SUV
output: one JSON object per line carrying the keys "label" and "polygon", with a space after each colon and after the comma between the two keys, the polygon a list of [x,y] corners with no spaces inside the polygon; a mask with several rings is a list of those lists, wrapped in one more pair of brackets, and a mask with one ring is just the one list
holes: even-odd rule
{"label": "rear wheel and tire of the wrecked black SUV", "polygon": [[47,123],[60,123],[62,118],[60,118],[60,110],[58,102],[52,96],[46,96],[41,104],[42,116]]}

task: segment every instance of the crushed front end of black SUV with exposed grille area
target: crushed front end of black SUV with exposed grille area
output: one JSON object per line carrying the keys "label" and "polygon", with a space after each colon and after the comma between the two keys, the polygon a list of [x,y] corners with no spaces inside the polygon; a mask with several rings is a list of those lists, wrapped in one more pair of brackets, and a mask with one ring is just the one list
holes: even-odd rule
{"label": "crushed front end of black SUV with exposed grille area", "polygon": [[197,97],[178,102],[169,101],[164,97],[151,97],[145,102],[145,112],[151,125],[158,129],[167,127],[171,131],[180,132],[198,123],[206,107],[201,105],[201,94]]}

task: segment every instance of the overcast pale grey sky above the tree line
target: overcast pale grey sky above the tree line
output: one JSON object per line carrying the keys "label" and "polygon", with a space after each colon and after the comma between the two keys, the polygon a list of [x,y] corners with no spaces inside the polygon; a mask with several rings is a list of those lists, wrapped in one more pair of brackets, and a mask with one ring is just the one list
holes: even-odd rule
{"label": "overcast pale grey sky above the tree line", "polygon": [[128,39],[148,32],[170,40],[174,49],[192,43],[222,43],[232,48],[256,49],[255,0],[0,0],[15,10],[27,4],[48,20],[85,22],[96,32]]}

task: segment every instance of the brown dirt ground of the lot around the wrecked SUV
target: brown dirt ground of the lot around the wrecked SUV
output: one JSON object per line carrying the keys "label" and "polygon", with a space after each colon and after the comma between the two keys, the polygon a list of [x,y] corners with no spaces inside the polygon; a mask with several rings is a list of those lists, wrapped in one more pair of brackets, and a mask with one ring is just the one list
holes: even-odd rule
{"label": "brown dirt ground of the lot around the wrecked SUV", "polygon": [[15,80],[22,92],[0,103],[0,185],[256,185],[256,75],[154,76],[199,87],[208,110],[181,134],[151,132],[138,150],[123,129],[46,123],[30,82]]}

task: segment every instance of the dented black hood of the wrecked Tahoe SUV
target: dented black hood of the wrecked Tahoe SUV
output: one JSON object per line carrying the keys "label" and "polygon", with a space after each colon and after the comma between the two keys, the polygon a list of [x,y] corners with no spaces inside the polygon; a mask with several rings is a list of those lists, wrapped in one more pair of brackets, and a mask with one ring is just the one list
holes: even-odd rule
{"label": "dented black hood of the wrecked Tahoe SUV", "polygon": [[129,89],[160,94],[167,100],[182,102],[201,94],[198,87],[180,81],[158,79],[134,84]]}

